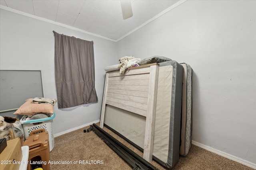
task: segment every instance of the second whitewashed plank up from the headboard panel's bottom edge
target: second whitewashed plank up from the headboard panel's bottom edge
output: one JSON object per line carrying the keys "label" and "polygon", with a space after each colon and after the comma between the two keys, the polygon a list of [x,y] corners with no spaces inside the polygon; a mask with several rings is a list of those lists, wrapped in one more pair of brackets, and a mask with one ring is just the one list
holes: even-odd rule
{"label": "second whitewashed plank up from the headboard panel's bottom edge", "polygon": [[[112,97],[108,97],[108,96],[106,97],[106,101],[119,103],[119,104],[122,104],[125,106],[130,106],[130,107],[133,107],[134,109],[147,110],[147,104],[142,104],[142,103],[138,103],[138,102],[122,100],[122,99],[112,98]],[[124,109],[124,108],[121,108],[121,109]]]}

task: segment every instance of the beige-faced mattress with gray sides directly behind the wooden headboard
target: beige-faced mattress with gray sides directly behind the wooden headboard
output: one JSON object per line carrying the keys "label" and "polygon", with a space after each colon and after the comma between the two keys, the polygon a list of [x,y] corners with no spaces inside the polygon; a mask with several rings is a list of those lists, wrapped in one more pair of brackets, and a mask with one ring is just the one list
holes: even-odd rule
{"label": "beige-faced mattress with gray sides directly behind the wooden headboard", "polygon": [[[176,61],[159,63],[153,159],[172,168],[179,160],[182,70]],[[146,118],[106,105],[104,125],[142,150]]]}

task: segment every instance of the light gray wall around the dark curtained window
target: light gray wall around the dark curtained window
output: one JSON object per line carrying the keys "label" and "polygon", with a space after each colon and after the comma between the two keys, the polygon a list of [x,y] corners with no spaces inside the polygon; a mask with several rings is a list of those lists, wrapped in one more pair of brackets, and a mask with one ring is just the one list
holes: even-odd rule
{"label": "light gray wall around the dark curtained window", "polygon": [[99,101],[61,110],[56,105],[54,107],[56,113],[54,134],[63,133],[100,119],[105,80],[104,68],[118,62],[116,61],[118,50],[115,42],[2,9],[0,21],[0,69],[42,70],[46,98],[57,98],[52,31],[94,41],[95,88]]}

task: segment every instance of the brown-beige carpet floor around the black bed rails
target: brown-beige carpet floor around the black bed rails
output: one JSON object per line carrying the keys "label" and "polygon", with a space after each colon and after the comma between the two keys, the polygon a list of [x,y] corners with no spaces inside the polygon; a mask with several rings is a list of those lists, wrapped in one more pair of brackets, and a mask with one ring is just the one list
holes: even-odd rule
{"label": "brown-beige carpet floor around the black bed rails", "polygon": [[[98,123],[96,123],[98,125]],[[93,131],[84,133],[84,127],[54,138],[54,149],[50,152],[51,170],[131,170],[132,168],[120,158]],[[127,143],[124,139],[107,129],[107,133],[121,143],[143,156],[143,153]],[[55,162],[54,162],[55,161]],[[163,166],[152,161],[156,168]],[[253,170],[243,164],[224,158],[213,152],[192,145],[187,156],[180,156],[173,170]]]}

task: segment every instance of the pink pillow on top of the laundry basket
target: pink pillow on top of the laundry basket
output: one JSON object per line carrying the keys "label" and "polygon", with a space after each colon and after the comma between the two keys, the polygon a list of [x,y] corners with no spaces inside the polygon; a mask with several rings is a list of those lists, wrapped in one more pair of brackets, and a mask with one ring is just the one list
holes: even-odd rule
{"label": "pink pillow on top of the laundry basket", "polygon": [[18,114],[18,115],[34,115],[37,113],[53,113],[53,107],[48,104],[37,104],[33,103],[34,99],[27,99],[18,110],[16,110],[13,114]]}

